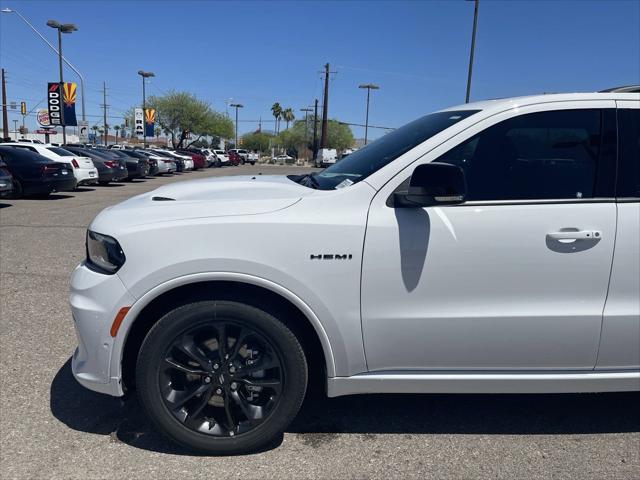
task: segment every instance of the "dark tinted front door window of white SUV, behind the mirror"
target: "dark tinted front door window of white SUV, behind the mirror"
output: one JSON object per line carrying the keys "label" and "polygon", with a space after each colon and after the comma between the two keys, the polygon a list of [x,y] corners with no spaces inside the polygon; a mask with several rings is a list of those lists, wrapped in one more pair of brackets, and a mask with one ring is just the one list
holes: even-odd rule
{"label": "dark tinted front door window of white SUV, behind the mirror", "polygon": [[465,171],[467,200],[592,198],[601,124],[600,110],[520,115],[482,131],[437,161]]}

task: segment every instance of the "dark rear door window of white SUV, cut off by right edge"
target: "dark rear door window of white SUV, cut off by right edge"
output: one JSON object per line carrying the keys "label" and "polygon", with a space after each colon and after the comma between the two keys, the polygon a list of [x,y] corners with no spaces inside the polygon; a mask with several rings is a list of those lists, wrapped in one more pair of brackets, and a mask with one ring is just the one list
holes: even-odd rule
{"label": "dark rear door window of white SUV, cut off by right edge", "polygon": [[640,197],[640,110],[618,110],[618,197]]}

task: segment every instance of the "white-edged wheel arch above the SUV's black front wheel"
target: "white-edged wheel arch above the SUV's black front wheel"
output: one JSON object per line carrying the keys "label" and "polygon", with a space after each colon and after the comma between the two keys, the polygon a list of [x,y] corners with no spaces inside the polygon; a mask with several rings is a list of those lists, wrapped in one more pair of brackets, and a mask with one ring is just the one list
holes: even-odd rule
{"label": "white-edged wheel arch above the SUV's black front wheel", "polygon": [[283,321],[302,343],[310,367],[310,383],[326,388],[335,376],[329,338],[312,309],[284,287],[245,274],[195,274],[162,284],[143,295],[130,309],[114,345],[111,376],[132,387],[140,345],[147,332],[169,310],[198,300],[234,300],[261,308]]}

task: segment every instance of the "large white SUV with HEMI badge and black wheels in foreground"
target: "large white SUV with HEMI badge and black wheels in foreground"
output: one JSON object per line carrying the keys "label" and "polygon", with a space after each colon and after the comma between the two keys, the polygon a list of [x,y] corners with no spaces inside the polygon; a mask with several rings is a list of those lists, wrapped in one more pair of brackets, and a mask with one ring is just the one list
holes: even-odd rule
{"label": "large white SUV with HEMI badge and black wheels in foreground", "polygon": [[135,196],[89,226],[73,373],[135,385],[216,454],[272,442],[309,381],[638,391],[638,158],[640,93],[538,95],[426,115],[322,172]]}

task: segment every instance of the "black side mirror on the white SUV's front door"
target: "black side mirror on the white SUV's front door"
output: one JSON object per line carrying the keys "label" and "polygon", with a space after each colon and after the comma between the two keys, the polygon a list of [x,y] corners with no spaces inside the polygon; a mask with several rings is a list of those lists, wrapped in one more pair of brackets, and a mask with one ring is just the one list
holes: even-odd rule
{"label": "black side mirror on the white SUV's front door", "polygon": [[464,171],[449,163],[418,165],[407,191],[393,194],[395,208],[420,208],[463,203],[467,194]]}

